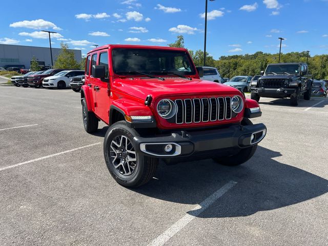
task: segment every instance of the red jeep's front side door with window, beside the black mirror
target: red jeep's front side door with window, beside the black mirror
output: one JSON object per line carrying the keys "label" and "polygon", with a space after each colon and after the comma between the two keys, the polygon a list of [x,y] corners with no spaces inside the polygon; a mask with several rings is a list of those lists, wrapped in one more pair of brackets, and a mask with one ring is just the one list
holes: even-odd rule
{"label": "red jeep's front side door with window, beside the black mirror", "polygon": [[105,78],[95,79],[94,91],[96,95],[96,114],[98,117],[109,124],[109,61],[108,52],[100,51],[98,65],[105,67]]}

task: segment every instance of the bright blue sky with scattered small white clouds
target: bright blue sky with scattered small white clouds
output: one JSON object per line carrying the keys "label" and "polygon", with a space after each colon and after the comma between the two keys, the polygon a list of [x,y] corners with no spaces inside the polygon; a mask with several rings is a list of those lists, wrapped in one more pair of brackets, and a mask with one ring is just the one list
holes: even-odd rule
{"label": "bright blue sky with scattered small white clouds", "polygon": [[[166,46],[185,36],[188,49],[203,49],[203,0],[3,1],[0,43],[53,47],[66,42],[86,54],[91,45]],[[94,4],[93,4],[94,3]],[[207,51],[221,55],[256,51],[328,53],[328,0],[216,0],[208,3]],[[45,36],[46,34],[46,36]]]}

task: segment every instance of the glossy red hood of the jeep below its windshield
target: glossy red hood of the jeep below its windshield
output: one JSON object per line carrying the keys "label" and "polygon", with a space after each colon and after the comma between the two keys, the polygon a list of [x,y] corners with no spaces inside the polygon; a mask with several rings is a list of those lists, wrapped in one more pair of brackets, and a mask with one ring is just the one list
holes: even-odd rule
{"label": "glossy red hood of the jeep below its windshield", "polygon": [[148,95],[153,98],[169,97],[173,95],[226,95],[240,94],[237,89],[201,79],[185,78],[117,78],[113,81],[116,90],[134,95],[145,100]]}

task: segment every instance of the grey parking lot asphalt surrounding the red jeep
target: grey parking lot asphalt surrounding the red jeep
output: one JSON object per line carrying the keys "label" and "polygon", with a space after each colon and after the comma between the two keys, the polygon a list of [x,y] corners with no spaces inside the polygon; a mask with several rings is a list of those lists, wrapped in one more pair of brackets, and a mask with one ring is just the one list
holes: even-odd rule
{"label": "grey parking lot asphalt surrounding the red jeep", "polygon": [[[235,168],[160,165],[126,189],[71,90],[0,87],[0,245],[328,245],[328,100],[261,98],[268,133]],[[199,205],[200,204],[200,205]]]}

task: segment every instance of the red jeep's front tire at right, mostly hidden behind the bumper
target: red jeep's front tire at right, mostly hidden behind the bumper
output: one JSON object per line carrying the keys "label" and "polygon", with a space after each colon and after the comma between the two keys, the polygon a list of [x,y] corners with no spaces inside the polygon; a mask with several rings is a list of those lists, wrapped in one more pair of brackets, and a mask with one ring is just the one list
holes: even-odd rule
{"label": "red jeep's front tire at right, mostly hidden behind the bumper", "polygon": [[[241,121],[241,125],[249,126],[249,125],[253,125],[253,123],[250,119],[243,118],[243,120]],[[257,149],[257,144],[248,148],[240,149],[240,151],[234,155],[213,158],[213,160],[223,166],[229,166],[229,167],[238,166],[251,159],[256,149]]]}

